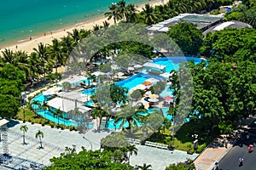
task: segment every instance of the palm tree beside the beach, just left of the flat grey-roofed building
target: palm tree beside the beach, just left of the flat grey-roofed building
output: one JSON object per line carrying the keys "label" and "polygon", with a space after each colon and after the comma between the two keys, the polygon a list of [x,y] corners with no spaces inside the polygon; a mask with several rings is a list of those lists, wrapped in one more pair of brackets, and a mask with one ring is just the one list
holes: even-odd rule
{"label": "palm tree beside the beach, just left of the flat grey-roofed building", "polygon": [[151,7],[148,3],[146,3],[145,7],[143,8],[142,17],[148,26],[151,26],[158,21],[158,17],[154,12],[154,8]]}

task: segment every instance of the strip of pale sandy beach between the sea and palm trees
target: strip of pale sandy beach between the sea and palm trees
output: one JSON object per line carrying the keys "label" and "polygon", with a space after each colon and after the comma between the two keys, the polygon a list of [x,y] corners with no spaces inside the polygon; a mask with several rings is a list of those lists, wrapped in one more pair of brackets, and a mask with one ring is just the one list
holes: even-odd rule
{"label": "strip of pale sandy beach between the sea and palm trees", "polygon": [[[154,7],[156,5],[160,5],[160,4],[165,4],[167,2],[160,2],[160,1],[149,1],[148,3]],[[141,4],[141,5],[137,5],[137,10],[142,11],[143,7],[145,6],[145,3]],[[16,50],[25,50],[28,54],[31,54],[33,51],[33,48],[37,48],[38,47],[38,43],[43,42],[44,44],[51,44],[51,41],[54,38],[61,38],[61,37],[65,37],[67,36],[67,32],[72,32],[74,28],[77,29],[85,29],[85,30],[90,30],[93,28],[93,26],[102,26],[103,21],[107,20],[108,23],[110,23],[110,25],[113,25],[113,19],[112,20],[108,20],[106,17],[102,16],[102,17],[98,17],[96,19],[93,20],[84,20],[84,22],[82,23],[78,23],[74,26],[69,26],[66,28],[63,28],[59,31],[50,31],[50,32],[46,32],[46,33],[42,33],[42,35],[38,35],[36,37],[32,37],[32,39],[30,40],[30,38],[28,37],[26,41],[24,42],[14,42],[11,45],[7,45],[6,47],[1,48],[1,51],[3,51],[4,48],[9,48],[13,51]]]}

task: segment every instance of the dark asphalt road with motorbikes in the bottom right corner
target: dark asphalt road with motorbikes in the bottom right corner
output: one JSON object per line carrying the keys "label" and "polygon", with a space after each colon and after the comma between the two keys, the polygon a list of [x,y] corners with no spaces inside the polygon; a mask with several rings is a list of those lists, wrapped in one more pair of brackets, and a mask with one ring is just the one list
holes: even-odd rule
{"label": "dark asphalt road with motorbikes in the bottom right corner", "polygon": [[[255,170],[256,169],[256,124],[254,123],[250,130],[250,139],[239,139],[229,153],[219,161],[219,169],[223,170]],[[249,144],[254,144],[253,152],[248,153]],[[244,159],[243,166],[239,167],[239,158]]]}

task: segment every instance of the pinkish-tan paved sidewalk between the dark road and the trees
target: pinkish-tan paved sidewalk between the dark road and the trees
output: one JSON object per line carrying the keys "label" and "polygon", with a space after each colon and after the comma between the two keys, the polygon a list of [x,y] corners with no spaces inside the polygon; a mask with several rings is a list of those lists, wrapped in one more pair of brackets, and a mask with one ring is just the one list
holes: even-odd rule
{"label": "pinkish-tan paved sidewalk between the dark road and the trees", "polygon": [[[244,120],[242,126],[238,128],[238,130],[235,130],[236,135],[237,133],[242,133],[243,131],[241,129],[247,128],[248,125],[254,121],[254,118],[255,117],[251,117]],[[214,139],[215,142],[212,142],[212,144],[195,159],[196,170],[212,170],[214,163],[220,161],[231,150],[233,144],[236,144],[236,140],[239,139],[236,135],[229,140],[227,148],[222,144],[224,139]]]}

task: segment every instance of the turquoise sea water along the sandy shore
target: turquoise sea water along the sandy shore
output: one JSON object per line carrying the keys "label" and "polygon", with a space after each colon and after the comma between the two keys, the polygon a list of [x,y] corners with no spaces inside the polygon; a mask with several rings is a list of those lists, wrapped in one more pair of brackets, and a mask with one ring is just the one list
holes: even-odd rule
{"label": "turquoise sea water along the sandy shore", "polygon": [[[8,0],[0,5],[0,46],[103,16],[118,0]],[[148,0],[125,0],[126,4]]]}

